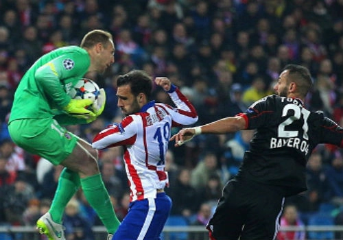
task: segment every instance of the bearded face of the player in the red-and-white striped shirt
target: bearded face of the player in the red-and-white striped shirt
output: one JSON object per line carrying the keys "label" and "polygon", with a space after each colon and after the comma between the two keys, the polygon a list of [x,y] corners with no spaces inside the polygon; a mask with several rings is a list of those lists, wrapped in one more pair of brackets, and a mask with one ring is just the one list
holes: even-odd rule
{"label": "bearded face of the player in the red-and-white striped shirt", "polygon": [[128,116],[139,112],[144,105],[141,101],[141,95],[135,96],[131,92],[130,85],[118,86],[117,88],[118,108],[120,108],[123,115]]}

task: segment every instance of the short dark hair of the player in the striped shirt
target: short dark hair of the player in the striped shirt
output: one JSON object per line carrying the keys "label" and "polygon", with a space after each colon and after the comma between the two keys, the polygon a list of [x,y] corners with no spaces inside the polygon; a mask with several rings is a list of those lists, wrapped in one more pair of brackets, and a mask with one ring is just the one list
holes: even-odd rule
{"label": "short dark hair of the player in the striped shirt", "polygon": [[142,70],[132,70],[125,75],[119,75],[117,86],[130,85],[134,96],[144,93],[147,99],[152,95],[152,78]]}

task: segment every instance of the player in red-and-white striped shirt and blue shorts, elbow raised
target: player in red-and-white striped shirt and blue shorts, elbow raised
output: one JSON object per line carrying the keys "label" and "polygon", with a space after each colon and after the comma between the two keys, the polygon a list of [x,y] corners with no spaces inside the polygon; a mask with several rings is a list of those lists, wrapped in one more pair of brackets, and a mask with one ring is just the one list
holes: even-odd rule
{"label": "player in red-and-white striped shirt and blue shorts, elbow raised", "polygon": [[176,108],[150,101],[150,76],[130,71],[117,80],[118,107],[126,117],[93,140],[96,149],[123,146],[131,204],[113,240],[160,239],[171,209],[171,200],[163,191],[168,185],[165,153],[171,127],[198,121],[193,105],[166,77],[156,77],[155,83],[169,94]]}

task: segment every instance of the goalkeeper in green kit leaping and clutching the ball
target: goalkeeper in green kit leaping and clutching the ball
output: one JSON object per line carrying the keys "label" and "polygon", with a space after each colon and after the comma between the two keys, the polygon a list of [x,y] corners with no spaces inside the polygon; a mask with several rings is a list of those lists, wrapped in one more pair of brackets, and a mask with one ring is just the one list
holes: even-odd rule
{"label": "goalkeeper in green kit leaping and clutching the ball", "polygon": [[[62,125],[90,123],[104,110],[101,90],[97,104],[91,99],[71,99],[69,90],[87,72],[104,71],[115,62],[110,33],[88,32],[80,47],[61,47],[34,62],[23,76],[12,106],[8,130],[16,145],[63,165],[49,212],[37,221],[37,229],[49,240],[64,240],[61,224],[64,207],[80,187],[108,230],[108,239],[119,226],[97,164],[97,150]],[[93,106],[93,111],[86,106]]]}

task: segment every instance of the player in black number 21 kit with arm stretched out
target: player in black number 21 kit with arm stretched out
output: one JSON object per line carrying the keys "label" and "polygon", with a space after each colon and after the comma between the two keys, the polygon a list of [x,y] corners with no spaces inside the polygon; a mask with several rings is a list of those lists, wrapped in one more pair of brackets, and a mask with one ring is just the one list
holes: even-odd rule
{"label": "player in black number 21 kit with arm stretched out", "polygon": [[305,167],[316,145],[343,147],[343,128],[303,101],[311,88],[305,67],[289,64],[274,86],[277,95],[256,101],[244,113],[171,137],[176,146],[198,134],[255,129],[237,176],[229,180],[206,228],[211,239],[275,239],[285,197],[307,189]]}

